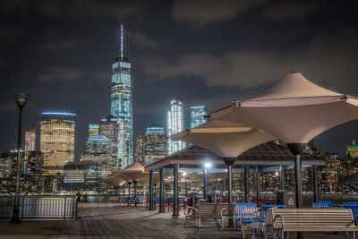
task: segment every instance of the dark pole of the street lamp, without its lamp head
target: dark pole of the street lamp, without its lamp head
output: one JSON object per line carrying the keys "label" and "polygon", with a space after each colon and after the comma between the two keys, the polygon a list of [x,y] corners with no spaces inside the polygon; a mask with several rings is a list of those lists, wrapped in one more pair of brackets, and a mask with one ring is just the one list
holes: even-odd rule
{"label": "dark pole of the street lamp, without its lamp head", "polygon": [[20,223],[19,218],[19,193],[20,193],[20,167],[21,167],[21,124],[22,124],[22,107],[19,107],[19,127],[17,136],[17,158],[16,158],[16,184],[15,184],[15,199],[13,203],[13,218],[12,223]]}

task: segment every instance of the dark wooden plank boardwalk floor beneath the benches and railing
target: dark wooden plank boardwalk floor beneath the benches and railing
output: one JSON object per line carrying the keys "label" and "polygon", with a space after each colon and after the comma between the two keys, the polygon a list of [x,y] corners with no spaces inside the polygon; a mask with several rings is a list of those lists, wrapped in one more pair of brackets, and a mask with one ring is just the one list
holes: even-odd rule
{"label": "dark wooden plank boardwalk floor beneath the benches and railing", "polygon": [[[20,225],[1,221],[0,238],[242,238],[228,228],[220,231],[213,221],[203,222],[200,229],[195,229],[193,223],[185,228],[183,216],[172,218],[171,212],[159,214],[157,210],[120,208],[111,203],[81,203],[78,214],[75,221],[24,221]],[[351,237],[305,235],[305,238]]]}

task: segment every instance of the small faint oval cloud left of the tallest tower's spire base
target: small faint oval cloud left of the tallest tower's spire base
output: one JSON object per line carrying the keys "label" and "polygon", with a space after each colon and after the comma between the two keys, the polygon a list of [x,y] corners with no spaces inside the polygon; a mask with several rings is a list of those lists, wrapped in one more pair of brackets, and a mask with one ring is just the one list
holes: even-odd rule
{"label": "small faint oval cloud left of the tallest tower's spire base", "polygon": [[44,73],[38,75],[39,81],[74,81],[84,75],[79,69],[52,66],[48,67]]}

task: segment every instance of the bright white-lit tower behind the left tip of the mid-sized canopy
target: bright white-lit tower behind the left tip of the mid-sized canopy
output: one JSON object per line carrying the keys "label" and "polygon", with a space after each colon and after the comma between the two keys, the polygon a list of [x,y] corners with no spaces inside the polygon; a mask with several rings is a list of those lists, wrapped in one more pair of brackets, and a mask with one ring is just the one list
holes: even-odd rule
{"label": "bright white-lit tower behind the left tip of the mid-sized canopy", "polygon": [[179,98],[170,102],[170,111],[167,112],[167,141],[166,141],[166,155],[171,155],[178,150],[185,148],[186,144],[183,141],[172,141],[170,136],[182,132],[183,124],[183,101]]}

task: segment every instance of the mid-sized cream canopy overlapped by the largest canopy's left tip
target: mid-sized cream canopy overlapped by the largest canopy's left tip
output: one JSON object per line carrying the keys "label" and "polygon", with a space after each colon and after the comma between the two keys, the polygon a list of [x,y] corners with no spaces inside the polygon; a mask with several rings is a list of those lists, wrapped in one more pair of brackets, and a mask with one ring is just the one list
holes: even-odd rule
{"label": "mid-sized cream canopy overlapped by the largest canopy's left tip", "polygon": [[199,145],[223,158],[237,158],[247,149],[273,141],[275,137],[242,124],[213,120],[172,135],[171,139]]}

